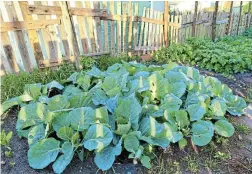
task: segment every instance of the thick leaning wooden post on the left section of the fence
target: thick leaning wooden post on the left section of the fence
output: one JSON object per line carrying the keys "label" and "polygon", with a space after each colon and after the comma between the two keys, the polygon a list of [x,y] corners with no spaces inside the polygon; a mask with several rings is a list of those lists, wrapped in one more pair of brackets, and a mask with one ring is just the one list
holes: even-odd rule
{"label": "thick leaning wooden post on the left section of the fence", "polygon": [[73,54],[73,58],[71,58],[70,56],[70,61],[75,62],[75,66],[77,69],[81,69],[82,67],[79,63],[80,51],[77,44],[76,34],[74,33],[74,24],[69,14],[67,2],[59,1],[59,5],[62,11],[62,22],[66,30],[70,53]]}

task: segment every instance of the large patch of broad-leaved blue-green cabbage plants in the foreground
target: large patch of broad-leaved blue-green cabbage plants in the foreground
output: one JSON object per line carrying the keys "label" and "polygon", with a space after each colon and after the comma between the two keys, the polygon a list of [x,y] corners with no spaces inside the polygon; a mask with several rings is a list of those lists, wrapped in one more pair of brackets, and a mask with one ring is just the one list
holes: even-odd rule
{"label": "large patch of broad-leaved blue-green cabbage plants in the foreground", "polygon": [[27,84],[3,103],[3,112],[14,105],[22,106],[16,130],[28,140],[29,165],[53,163],[55,173],[88,151],[101,170],[123,151],[150,168],[155,147],[178,142],[184,148],[188,138],[205,146],[214,135],[232,136],[226,112],[240,116],[246,107],[227,85],[194,68],[125,61],[74,72],[64,84]]}

